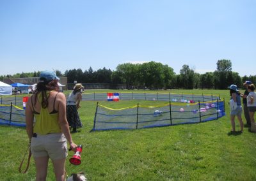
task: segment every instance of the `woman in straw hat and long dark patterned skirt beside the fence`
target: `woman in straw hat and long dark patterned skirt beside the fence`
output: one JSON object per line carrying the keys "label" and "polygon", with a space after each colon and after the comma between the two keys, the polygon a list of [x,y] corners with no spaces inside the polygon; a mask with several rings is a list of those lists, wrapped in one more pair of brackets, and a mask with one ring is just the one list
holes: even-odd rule
{"label": "woman in straw hat and long dark patterned skirt beside the fence", "polygon": [[68,125],[72,127],[72,133],[77,132],[77,128],[82,127],[82,123],[77,110],[80,108],[82,93],[84,87],[81,83],[76,83],[73,91],[69,94],[67,99],[67,120]]}

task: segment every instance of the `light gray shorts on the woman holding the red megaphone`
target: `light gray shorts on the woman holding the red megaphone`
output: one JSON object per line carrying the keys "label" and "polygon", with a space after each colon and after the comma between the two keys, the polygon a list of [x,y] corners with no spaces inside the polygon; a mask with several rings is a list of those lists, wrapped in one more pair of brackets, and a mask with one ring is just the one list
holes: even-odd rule
{"label": "light gray shorts on the woman holding the red megaphone", "polygon": [[36,137],[32,137],[30,147],[33,157],[49,156],[56,160],[68,156],[67,139],[63,133],[37,134]]}

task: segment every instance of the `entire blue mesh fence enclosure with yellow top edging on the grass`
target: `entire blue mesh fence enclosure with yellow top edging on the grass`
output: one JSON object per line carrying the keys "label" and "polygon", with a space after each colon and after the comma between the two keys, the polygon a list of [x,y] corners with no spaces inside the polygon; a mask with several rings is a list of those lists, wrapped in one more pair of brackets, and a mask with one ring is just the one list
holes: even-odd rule
{"label": "entire blue mesh fence enclosure with yellow top edging on the grass", "polygon": [[[107,100],[107,93],[83,93],[83,101],[104,101]],[[127,108],[124,110],[100,110],[97,112],[97,124],[94,126],[94,130],[104,129],[136,129],[143,127],[154,126],[169,126],[173,124],[183,124],[189,122],[203,122],[207,120],[216,119],[225,115],[224,105],[220,100],[220,96],[204,95],[204,94],[174,94],[174,93],[146,93],[146,92],[118,92],[120,93],[120,100],[147,100],[147,101],[171,101],[171,110],[168,105],[163,106],[163,114],[159,117],[152,118],[152,111],[156,108],[143,107],[141,105],[134,108]],[[25,112],[22,110],[22,98],[26,95],[13,95],[13,96],[1,96],[0,102],[0,124],[8,124],[14,126],[25,126]],[[66,95],[68,96],[68,94]],[[196,105],[190,104],[189,107],[179,105],[180,101],[195,101]],[[221,113],[216,113],[216,108],[210,108],[205,112],[192,114],[193,110],[198,110],[198,102],[212,102],[215,104],[219,101]],[[215,101],[215,102],[214,102]],[[188,103],[187,103],[188,104]],[[222,104],[222,105],[221,105]],[[12,105],[12,106],[11,106]],[[200,106],[204,106],[204,103],[200,103]],[[195,108],[193,108],[195,106]],[[100,107],[100,106],[99,106]],[[169,110],[168,110],[169,108]],[[180,108],[184,108],[184,112],[179,112]],[[172,119],[170,120],[170,115]],[[169,117],[168,117],[169,116]],[[137,119],[138,117],[138,119]],[[111,119],[108,119],[111,118]],[[124,119],[122,119],[124,118]],[[107,122],[109,126],[106,126]],[[138,120],[138,122],[137,122]],[[115,124],[114,124],[115,123]],[[112,126],[110,126],[112,125]],[[125,126],[124,126],[125,125]]]}

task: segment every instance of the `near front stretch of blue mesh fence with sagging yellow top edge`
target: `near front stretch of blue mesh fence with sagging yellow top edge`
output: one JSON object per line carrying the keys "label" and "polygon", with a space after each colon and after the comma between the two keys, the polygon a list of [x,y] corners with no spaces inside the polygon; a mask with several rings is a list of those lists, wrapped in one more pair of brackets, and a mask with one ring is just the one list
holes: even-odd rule
{"label": "near front stretch of blue mesh fence with sagging yellow top edge", "polygon": [[168,103],[159,106],[135,105],[113,109],[97,104],[92,131],[141,129],[216,120],[225,115],[224,101]]}

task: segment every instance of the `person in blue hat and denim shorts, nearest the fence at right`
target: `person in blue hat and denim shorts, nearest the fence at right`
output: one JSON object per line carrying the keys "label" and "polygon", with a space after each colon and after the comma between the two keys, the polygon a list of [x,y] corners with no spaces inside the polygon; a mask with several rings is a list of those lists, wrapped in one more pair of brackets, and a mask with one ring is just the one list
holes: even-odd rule
{"label": "person in blue hat and denim shorts, nearest the fence at right", "polygon": [[241,98],[239,95],[239,91],[237,89],[237,86],[232,84],[230,85],[230,100],[233,99],[234,102],[236,103],[237,107],[234,110],[230,111],[230,121],[231,121],[231,126],[232,126],[232,131],[231,133],[235,133],[236,131],[236,124],[235,124],[235,117],[237,116],[237,119],[239,120],[239,124],[241,127],[241,133],[243,133],[243,128],[244,128],[244,124],[243,124],[243,120],[242,120],[242,106],[241,106]]}

